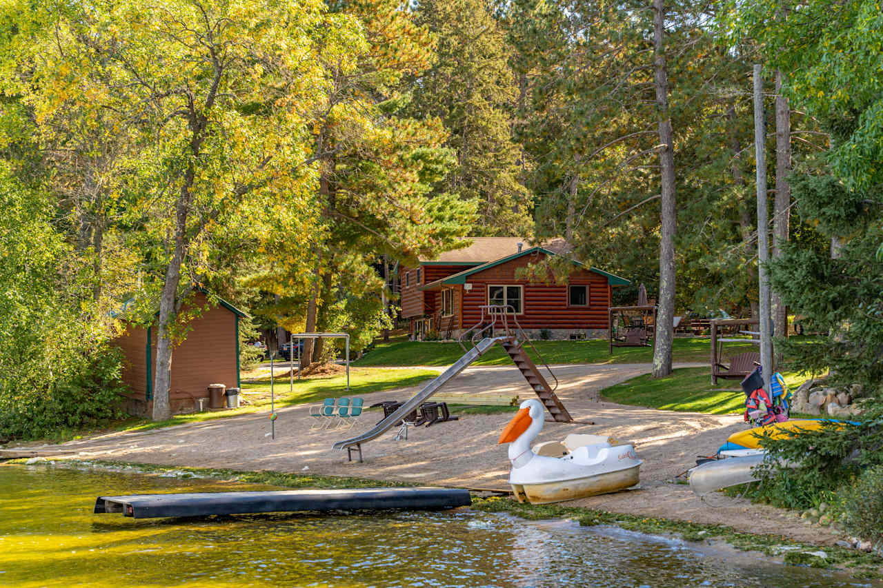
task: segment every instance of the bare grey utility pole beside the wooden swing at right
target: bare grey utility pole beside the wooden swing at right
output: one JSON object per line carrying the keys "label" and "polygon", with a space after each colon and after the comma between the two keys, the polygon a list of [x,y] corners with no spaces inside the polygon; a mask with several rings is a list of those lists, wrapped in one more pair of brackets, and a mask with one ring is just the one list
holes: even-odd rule
{"label": "bare grey utility pole beside the wooden swing at right", "polygon": [[766,124],[764,119],[764,79],[761,67],[754,66],[754,151],[757,161],[758,186],[758,283],[760,290],[760,365],[763,366],[764,387],[770,389],[773,376],[773,334],[770,324],[770,283],[766,275],[769,259],[769,238],[766,218]]}

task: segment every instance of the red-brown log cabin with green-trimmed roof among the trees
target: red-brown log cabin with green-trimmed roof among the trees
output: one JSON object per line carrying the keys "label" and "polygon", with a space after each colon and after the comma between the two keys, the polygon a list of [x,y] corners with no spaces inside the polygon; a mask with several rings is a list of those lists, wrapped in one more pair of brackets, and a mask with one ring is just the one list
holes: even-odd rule
{"label": "red-brown log cabin with green-trimmed roof among the trees", "polygon": [[[519,237],[469,237],[472,245],[401,268],[402,317],[411,338],[451,339],[481,320],[483,305],[511,305],[528,336],[594,339],[608,336],[612,289],[629,280],[571,259],[561,242],[525,247]],[[565,282],[533,282],[518,270],[561,256],[573,269]]]}

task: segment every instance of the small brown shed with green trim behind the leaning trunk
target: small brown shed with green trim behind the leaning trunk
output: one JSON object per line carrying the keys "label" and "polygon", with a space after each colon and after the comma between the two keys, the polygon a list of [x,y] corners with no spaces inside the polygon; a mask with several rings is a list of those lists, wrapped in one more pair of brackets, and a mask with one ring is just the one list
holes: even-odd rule
{"label": "small brown shed with green trim behind the leaning trunk", "polygon": [[[217,304],[214,304],[216,300]],[[198,291],[185,306],[202,308],[187,325],[186,338],[171,358],[170,405],[172,413],[195,410],[197,399],[208,396],[209,384],[239,387],[239,319],[248,315],[221,298],[209,299]],[[156,327],[130,324],[114,341],[123,351],[125,411],[149,415],[153,410]]]}

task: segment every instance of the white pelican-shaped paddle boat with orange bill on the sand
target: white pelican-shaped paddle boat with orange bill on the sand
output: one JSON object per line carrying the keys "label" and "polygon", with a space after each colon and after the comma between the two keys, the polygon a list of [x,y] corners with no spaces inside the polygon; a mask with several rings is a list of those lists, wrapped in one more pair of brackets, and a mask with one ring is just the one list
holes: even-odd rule
{"label": "white pelican-shaped paddle boat with orange bill on the sand", "polygon": [[509,443],[509,486],[519,502],[570,501],[638,484],[643,462],[631,445],[614,445],[599,435],[568,435],[564,443],[532,448],[543,422],[543,405],[532,398],[521,403],[500,434],[498,443]]}

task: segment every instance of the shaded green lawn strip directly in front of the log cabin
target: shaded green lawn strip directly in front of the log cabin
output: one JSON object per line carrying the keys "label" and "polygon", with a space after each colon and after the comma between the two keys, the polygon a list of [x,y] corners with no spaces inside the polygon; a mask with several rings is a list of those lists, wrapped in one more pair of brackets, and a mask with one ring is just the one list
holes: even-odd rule
{"label": "shaded green lawn strip directly in front of the log cabin", "polygon": [[[708,337],[685,337],[675,339],[675,361],[709,362],[711,343]],[[608,353],[608,342],[604,341],[534,341],[537,350],[549,364],[642,364],[653,361],[652,347],[614,347]],[[729,356],[743,351],[755,351],[752,343],[727,343],[724,355]],[[537,358],[528,348],[534,361]],[[463,355],[457,343],[434,343],[400,341],[377,343],[363,358],[353,362],[354,366],[449,366]],[[509,356],[502,347],[494,346],[481,356],[473,366],[502,366],[510,363]]]}

